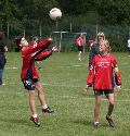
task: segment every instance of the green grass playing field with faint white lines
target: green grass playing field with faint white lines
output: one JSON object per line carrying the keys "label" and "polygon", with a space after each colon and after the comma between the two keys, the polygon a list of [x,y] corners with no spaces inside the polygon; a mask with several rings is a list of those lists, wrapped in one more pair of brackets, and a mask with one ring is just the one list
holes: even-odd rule
{"label": "green grass playing field with faint white lines", "polygon": [[81,62],[77,53],[54,53],[40,62],[39,70],[48,103],[53,114],[41,114],[37,99],[37,112],[41,123],[35,127],[29,121],[28,92],[23,88],[20,75],[21,53],[9,52],[4,70],[4,86],[0,87],[0,136],[130,136],[130,58],[127,53],[114,53],[122,75],[122,91],[115,92],[112,128],[105,121],[107,100],[102,99],[101,127],[92,127],[94,96],[82,91],[86,86],[88,53]]}

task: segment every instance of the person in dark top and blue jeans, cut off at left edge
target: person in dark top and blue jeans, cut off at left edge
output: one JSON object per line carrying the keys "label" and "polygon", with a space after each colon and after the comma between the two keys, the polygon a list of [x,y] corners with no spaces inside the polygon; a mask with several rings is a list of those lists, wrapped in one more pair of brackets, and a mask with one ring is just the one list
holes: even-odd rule
{"label": "person in dark top and blue jeans, cut off at left edge", "polygon": [[8,46],[4,39],[4,32],[0,30],[0,86],[3,84],[2,75],[4,65],[6,63],[6,58],[4,52],[8,52]]}

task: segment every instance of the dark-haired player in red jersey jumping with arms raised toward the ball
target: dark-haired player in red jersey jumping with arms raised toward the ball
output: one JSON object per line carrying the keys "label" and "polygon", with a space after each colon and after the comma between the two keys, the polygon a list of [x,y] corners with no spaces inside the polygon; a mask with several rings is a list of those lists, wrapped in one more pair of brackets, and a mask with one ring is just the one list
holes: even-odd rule
{"label": "dark-haired player in red jersey jumping with arms raised toward the ball", "polygon": [[42,61],[50,57],[53,51],[56,51],[55,47],[52,50],[46,50],[51,44],[52,39],[46,39],[38,42],[37,45],[28,45],[25,37],[18,37],[15,39],[17,47],[21,47],[23,57],[23,66],[21,78],[24,84],[25,89],[29,92],[29,106],[31,111],[30,121],[32,121],[37,126],[40,126],[38,121],[38,115],[36,113],[35,104],[35,89],[38,91],[38,97],[42,106],[42,113],[52,113],[53,111],[47,106],[47,100],[44,97],[44,91],[39,82],[39,75],[36,70],[36,61]]}

